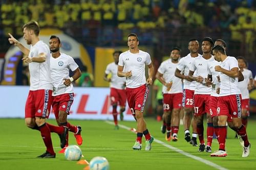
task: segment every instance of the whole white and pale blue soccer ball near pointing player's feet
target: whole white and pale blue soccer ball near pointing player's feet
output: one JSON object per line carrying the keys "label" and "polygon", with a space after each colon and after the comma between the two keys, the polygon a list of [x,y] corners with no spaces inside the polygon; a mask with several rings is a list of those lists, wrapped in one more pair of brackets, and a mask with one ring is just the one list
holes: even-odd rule
{"label": "whole white and pale blue soccer ball near pointing player's feet", "polygon": [[68,160],[79,160],[82,156],[82,151],[77,145],[69,145],[64,154]]}

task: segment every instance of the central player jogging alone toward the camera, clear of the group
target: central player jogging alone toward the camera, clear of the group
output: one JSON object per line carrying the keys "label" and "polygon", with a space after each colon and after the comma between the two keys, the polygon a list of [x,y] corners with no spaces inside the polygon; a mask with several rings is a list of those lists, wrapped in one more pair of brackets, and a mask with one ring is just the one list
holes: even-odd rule
{"label": "central player jogging alone toward the camera, clear of the group", "polygon": [[[139,38],[135,33],[128,35],[129,50],[120,54],[118,62],[119,77],[126,77],[127,102],[137,120],[137,139],[134,150],[141,150],[141,140],[146,138],[145,150],[151,150],[154,138],[150,135],[143,118],[144,106],[149,92],[148,85],[152,85],[154,67],[148,53],[138,49]],[[148,78],[145,78],[145,65],[148,67]],[[125,68],[125,69],[123,69]]]}

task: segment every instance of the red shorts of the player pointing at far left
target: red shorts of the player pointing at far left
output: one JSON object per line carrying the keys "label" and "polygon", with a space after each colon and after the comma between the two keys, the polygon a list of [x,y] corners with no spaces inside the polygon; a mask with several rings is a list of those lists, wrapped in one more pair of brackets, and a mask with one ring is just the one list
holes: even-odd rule
{"label": "red shorts of the player pointing at far left", "polygon": [[51,111],[52,90],[29,90],[25,106],[25,118],[48,118]]}

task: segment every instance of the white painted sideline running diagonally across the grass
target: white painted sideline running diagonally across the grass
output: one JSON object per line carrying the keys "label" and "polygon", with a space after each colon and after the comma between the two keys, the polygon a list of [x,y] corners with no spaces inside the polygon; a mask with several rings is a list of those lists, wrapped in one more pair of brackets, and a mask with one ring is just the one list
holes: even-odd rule
{"label": "white painted sideline running diagonally across the grass", "polygon": [[[108,121],[108,120],[106,120],[105,122],[106,122],[107,124],[114,125],[113,122],[110,122],[110,121]],[[123,128],[123,129],[129,130],[129,131],[131,130],[131,128],[129,128],[129,127],[127,127],[127,126],[124,126],[124,125],[118,124],[118,126],[121,127],[121,128]],[[200,157],[198,157],[198,156],[191,155],[191,154],[189,154],[189,153],[187,153],[187,152],[184,152],[184,151],[182,151],[182,150],[180,150],[180,149],[178,149],[178,148],[175,148],[175,147],[173,147],[172,145],[167,144],[167,143],[165,143],[165,142],[163,142],[163,141],[161,141],[161,140],[158,140],[158,139],[156,139],[156,138],[154,138],[154,141],[157,142],[157,143],[159,143],[159,144],[162,144],[164,147],[169,148],[170,150],[173,150],[173,151],[178,152],[178,153],[180,153],[180,154],[182,154],[182,155],[185,155],[185,156],[187,156],[187,157],[189,157],[189,158],[192,158],[192,159],[195,159],[195,160],[197,160],[197,161],[200,161],[200,162],[202,162],[202,163],[204,163],[204,164],[206,164],[206,165],[209,165],[209,166],[211,166],[211,167],[214,167],[214,168],[216,168],[216,169],[228,170],[228,169],[225,168],[225,167],[222,167],[222,166],[220,166],[220,165],[217,165],[217,164],[215,164],[215,163],[213,163],[213,162],[211,162],[211,161],[205,160],[205,159],[200,158]]]}

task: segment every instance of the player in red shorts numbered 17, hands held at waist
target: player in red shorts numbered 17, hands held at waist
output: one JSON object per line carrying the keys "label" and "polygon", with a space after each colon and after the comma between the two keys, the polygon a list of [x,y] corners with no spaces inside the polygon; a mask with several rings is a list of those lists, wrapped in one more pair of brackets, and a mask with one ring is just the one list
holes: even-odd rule
{"label": "player in red shorts numbered 17, hands held at waist", "polygon": [[[210,94],[211,87],[206,86],[205,79],[207,79],[207,64],[214,61],[214,57],[211,56],[211,47],[214,42],[210,37],[205,37],[202,40],[202,57],[195,58],[189,67],[188,77],[196,81],[196,89],[194,94],[194,109],[195,115],[197,117],[197,133],[200,140],[199,152],[211,152],[212,137],[214,135],[214,126],[212,124],[212,119],[209,112],[210,104]],[[197,70],[197,76],[194,77],[193,74]],[[205,148],[204,143],[204,126],[203,118],[204,114],[207,116],[207,144]]]}

